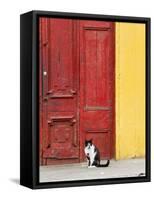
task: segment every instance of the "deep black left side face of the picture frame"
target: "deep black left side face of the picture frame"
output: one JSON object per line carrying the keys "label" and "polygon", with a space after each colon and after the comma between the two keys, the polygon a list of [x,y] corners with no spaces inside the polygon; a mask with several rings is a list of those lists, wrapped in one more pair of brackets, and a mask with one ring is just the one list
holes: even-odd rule
{"label": "deep black left side face of the picture frame", "polygon": [[[28,30],[28,31],[27,31]],[[32,187],[32,12],[20,16],[20,184]]]}

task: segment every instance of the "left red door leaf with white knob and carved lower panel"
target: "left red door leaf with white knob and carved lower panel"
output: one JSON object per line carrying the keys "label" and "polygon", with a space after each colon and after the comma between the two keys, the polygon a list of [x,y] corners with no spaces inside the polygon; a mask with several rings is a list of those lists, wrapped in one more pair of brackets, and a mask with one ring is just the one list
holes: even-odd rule
{"label": "left red door leaf with white knob and carved lower panel", "polygon": [[76,21],[40,20],[43,164],[79,162]]}

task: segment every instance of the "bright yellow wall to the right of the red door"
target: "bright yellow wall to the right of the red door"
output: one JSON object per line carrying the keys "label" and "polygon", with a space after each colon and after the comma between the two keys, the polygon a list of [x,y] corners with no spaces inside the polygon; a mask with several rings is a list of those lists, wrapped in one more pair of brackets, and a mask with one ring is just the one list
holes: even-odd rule
{"label": "bright yellow wall to the right of the red door", "polygon": [[145,155],[145,25],[116,23],[116,159]]}

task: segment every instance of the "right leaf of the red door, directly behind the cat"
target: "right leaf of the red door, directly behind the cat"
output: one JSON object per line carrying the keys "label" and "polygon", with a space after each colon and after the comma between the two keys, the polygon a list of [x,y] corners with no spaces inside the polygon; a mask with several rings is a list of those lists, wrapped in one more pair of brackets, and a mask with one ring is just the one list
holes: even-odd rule
{"label": "right leaf of the red door, directly behind the cat", "polygon": [[[114,153],[114,24],[80,21],[80,141],[92,139],[102,159]],[[84,159],[84,152],[80,152]]]}

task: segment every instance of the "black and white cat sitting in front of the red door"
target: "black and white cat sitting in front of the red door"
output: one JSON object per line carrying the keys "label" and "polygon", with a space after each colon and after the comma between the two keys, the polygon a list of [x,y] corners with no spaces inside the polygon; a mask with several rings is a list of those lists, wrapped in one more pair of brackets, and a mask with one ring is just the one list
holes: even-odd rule
{"label": "black and white cat sitting in front of the red door", "polygon": [[85,141],[84,148],[85,155],[88,161],[88,167],[108,167],[110,160],[107,160],[106,164],[100,164],[100,152],[99,149],[92,143],[92,140]]}

